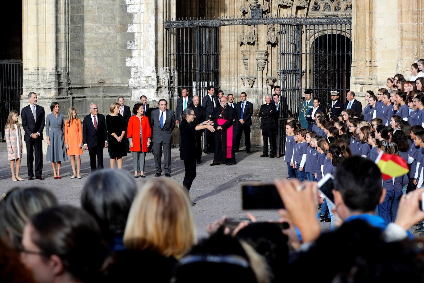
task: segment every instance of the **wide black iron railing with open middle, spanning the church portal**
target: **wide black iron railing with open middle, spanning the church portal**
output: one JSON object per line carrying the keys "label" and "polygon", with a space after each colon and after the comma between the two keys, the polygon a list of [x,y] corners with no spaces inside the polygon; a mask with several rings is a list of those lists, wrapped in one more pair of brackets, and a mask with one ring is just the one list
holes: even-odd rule
{"label": "wide black iron railing with open middle, spanning the church portal", "polygon": [[[202,98],[207,85],[219,89],[219,28],[226,25],[274,25],[279,27],[277,81],[287,100],[280,112],[277,154],[285,154],[287,118],[299,115],[303,90],[310,88],[326,111],[329,92],[340,92],[344,101],[349,91],[351,65],[350,15],[342,17],[265,17],[262,9],[251,17],[221,17],[165,21],[168,32],[168,59],[171,108],[181,88]],[[235,59],[237,60],[237,59]]]}

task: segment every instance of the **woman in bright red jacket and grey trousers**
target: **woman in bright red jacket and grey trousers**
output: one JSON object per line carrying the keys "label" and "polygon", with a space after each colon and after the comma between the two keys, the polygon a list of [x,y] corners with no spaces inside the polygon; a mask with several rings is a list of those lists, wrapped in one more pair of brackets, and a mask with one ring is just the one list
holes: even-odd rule
{"label": "woman in bright red jacket and grey trousers", "polygon": [[[146,152],[149,151],[148,147],[151,143],[152,131],[149,119],[143,115],[143,104],[135,104],[133,113],[134,116],[131,116],[128,121],[127,137],[130,144],[130,151],[132,151],[133,155],[134,178],[140,176],[145,178],[144,162],[146,159]],[[138,171],[140,171],[140,175],[138,175]]]}

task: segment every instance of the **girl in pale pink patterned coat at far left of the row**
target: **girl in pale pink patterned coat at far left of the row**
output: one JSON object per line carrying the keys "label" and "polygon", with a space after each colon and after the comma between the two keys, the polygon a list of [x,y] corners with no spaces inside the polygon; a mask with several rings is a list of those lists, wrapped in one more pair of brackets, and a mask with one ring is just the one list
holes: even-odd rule
{"label": "girl in pale pink patterned coat at far left of the row", "polygon": [[[7,143],[7,158],[10,160],[10,170],[12,171],[12,181],[23,181],[19,177],[19,169],[21,167],[22,158],[22,134],[18,121],[18,112],[12,110],[7,118],[4,133]],[[15,175],[15,160],[16,160],[16,175]]]}

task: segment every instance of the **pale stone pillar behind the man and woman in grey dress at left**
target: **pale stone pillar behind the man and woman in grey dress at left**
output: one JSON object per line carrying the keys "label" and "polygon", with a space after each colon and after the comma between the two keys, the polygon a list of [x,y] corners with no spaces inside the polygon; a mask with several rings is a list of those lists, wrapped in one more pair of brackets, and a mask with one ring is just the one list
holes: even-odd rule
{"label": "pale stone pillar behind the man and woman in grey dress at left", "polygon": [[[53,100],[61,104],[62,113],[67,112],[67,7],[67,0],[23,1],[21,109],[33,91],[46,115]],[[43,147],[45,151],[47,145]]]}

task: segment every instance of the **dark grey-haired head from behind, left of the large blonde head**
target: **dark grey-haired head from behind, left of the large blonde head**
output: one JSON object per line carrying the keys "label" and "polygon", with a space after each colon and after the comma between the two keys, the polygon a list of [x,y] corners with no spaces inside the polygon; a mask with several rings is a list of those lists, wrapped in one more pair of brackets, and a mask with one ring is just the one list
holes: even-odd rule
{"label": "dark grey-haired head from behind, left of the large blonde head", "polygon": [[134,179],[105,169],[92,174],[81,192],[82,208],[94,217],[112,251],[125,249],[125,225],[137,191]]}

